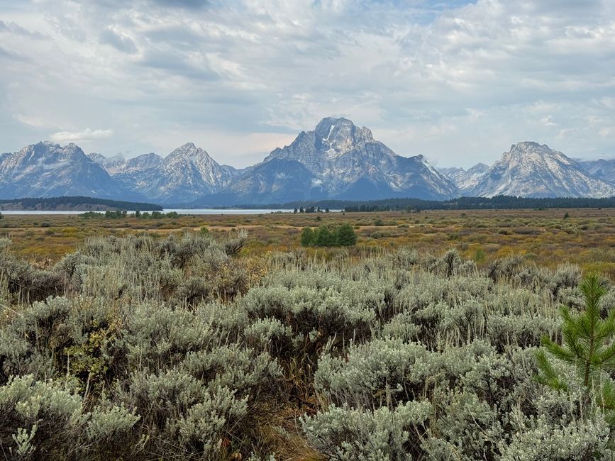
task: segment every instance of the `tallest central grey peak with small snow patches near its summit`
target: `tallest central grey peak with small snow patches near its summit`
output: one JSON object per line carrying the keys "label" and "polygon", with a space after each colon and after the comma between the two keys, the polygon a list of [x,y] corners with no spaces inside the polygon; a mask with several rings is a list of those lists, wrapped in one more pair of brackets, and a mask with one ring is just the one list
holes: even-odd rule
{"label": "tallest central grey peak with small snow patches near its summit", "polygon": [[291,145],[273,150],[264,162],[274,159],[300,162],[336,198],[360,193],[362,199],[409,194],[449,199],[458,194],[455,184],[424,157],[401,157],[375,140],[369,129],[346,118],[323,118],[313,131],[299,133]]}

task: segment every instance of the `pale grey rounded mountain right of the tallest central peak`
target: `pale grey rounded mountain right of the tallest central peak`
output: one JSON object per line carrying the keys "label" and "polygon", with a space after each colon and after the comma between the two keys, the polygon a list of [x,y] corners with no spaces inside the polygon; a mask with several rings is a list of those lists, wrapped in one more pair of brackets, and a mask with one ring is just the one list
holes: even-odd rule
{"label": "pale grey rounded mountain right of the tallest central peak", "polygon": [[615,195],[615,187],[591,177],[577,162],[548,145],[524,142],[504,152],[467,194],[603,197]]}

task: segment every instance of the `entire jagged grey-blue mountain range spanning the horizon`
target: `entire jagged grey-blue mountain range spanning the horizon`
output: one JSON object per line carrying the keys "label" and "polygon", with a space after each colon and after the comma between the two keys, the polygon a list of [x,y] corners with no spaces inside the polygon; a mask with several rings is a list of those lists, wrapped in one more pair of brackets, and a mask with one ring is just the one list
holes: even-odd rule
{"label": "entire jagged grey-blue mountain range spanning the horizon", "polygon": [[43,142],[0,155],[0,199],[83,195],[160,204],[231,206],[318,199],[615,196],[615,160],[572,160],[547,145],[512,145],[492,166],[436,170],[397,155],[346,118],[323,118],[257,165],[220,165],[187,143],[166,157],[86,155]]}

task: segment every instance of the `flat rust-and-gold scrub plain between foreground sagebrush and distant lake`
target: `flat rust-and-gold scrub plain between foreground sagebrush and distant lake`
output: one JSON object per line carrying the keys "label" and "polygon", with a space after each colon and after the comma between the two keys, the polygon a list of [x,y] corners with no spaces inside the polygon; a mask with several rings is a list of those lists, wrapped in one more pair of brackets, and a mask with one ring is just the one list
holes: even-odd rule
{"label": "flat rust-and-gold scrub plain between foreground sagebrush and distant lake", "polygon": [[[564,219],[565,213],[570,215]],[[458,248],[479,265],[521,254],[538,265],[564,262],[598,270],[615,279],[615,209],[423,211],[421,213],[321,213],[208,215],[154,219],[85,219],[79,216],[5,216],[0,235],[13,239],[13,250],[28,260],[58,260],[93,235],[182,233],[206,226],[214,235],[237,228],[249,231],[243,250],[249,255],[287,251],[299,246],[304,226],[355,226],[355,255],[366,249],[411,245],[421,251]],[[376,225],[382,224],[382,225]],[[332,252],[310,249],[323,257]]]}

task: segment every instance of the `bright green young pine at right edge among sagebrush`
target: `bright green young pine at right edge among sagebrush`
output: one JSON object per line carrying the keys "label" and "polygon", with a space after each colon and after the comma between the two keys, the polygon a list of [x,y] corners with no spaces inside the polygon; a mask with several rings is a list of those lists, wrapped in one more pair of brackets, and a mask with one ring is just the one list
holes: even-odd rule
{"label": "bright green young pine at right edge among sagebrush", "polygon": [[[538,361],[538,382],[555,389],[567,389],[566,382],[558,376],[546,352],[579,370],[579,377],[587,389],[598,391],[599,405],[612,409],[615,389],[604,372],[615,370],[615,309],[602,315],[600,299],[606,294],[606,284],[597,274],[589,274],[580,284],[584,296],[585,310],[576,316],[562,306],[562,338],[559,345],[545,336],[543,349],[536,354]],[[601,376],[602,375],[602,376]],[[595,379],[594,379],[595,378]],[[596,388],[597,387],[597,388]]]}

